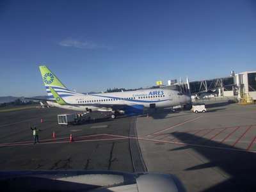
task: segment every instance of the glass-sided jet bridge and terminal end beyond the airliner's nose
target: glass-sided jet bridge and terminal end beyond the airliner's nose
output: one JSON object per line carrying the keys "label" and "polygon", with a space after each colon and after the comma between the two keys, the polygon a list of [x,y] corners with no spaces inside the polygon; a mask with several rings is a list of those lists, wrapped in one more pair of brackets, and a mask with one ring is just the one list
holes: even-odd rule
{"label": "glass-sided jet bridge and terminal end beyond the airliner's nose", "polygon": [[187,81],[177,83],[177,79],[168,81],[163,89],[180,90],[192,97],[235,97],[238,100],[256,100],[256,71],[230,73],[230,77],[207,79],[202,81]]}

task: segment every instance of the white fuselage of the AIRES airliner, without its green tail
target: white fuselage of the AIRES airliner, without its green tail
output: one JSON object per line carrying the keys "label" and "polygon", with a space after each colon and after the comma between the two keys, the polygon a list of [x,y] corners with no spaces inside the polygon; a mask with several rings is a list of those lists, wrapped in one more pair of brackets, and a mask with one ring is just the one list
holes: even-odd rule
{"label": "white fuselage of the AIRES airliner, without its green tail", "polygon": [[175,90],[137,90],[131,92],[77,94],[62,97],[67,105],[49,102],[52,106],[75,111],[113,111],[120,106],[142,105],[144,108],[168,108],[188,103],[191,98]]}

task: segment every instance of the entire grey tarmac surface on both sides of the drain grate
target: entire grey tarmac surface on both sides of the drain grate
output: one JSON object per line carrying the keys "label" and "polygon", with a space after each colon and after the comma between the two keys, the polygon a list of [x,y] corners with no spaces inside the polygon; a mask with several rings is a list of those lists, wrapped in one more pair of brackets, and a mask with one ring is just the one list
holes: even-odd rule
{"label": "entire grey tarmac surface on both sides of the drain grate", "polygon": [[[205,104],[207,113],[157,109],[148,117],[115,120],[92,113],[90,121],[67,127],[58,125],[57,115],[76,112],[58,108],[1,112],[0,170],[132,173],[137,169],[131,141],[137,141],[141,153],[137,161],[145,170],[176,175],[187,191],[256,191],[256,104]],[[42,130],[39,144],[33,144],[29,124]],[[136,134],[131,134],[132,126]],[[74,142],[69,141],[70,134]]]}

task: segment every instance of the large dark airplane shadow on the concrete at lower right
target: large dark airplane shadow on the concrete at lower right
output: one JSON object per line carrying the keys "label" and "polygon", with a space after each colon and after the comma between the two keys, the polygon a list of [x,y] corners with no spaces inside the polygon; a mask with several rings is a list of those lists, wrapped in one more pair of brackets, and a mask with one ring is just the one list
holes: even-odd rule
{"label": "large dark airplane shadow on the concrete at lower right", "polygon": [[[241,148],[232,147],[216,141],[210,141],[205,138],[195,136],[185,132],[180,135],[180,132],[172,133],[175,138],[178,138],[185,147],[179,147],[174,150],[186,150],[193,148],[196,152],[209,159],[209,163],[200,164],[187,168],[186,170],[202,170],[205,168],[214,168],[218,166],[221,170],[230,175],[230,179],[225,180],[211,188],[205,189],[204,192],[211,191],[256,191],[256,154],[253,152],[246,152]],[[205,143],[196,144],[198,147],[193,146],[193,143]],[[216,146],[219,146],[217,148]],[[215,147],[215,148],[211,148]],[[233,150],[232,150],[233,149]],[[243,151],[239,151],[243,150]],[[216,170],[216,169],[214,169]],[[211,178],[210,178],[211,179]],[[202,182],[204,178],[202,178]]]}

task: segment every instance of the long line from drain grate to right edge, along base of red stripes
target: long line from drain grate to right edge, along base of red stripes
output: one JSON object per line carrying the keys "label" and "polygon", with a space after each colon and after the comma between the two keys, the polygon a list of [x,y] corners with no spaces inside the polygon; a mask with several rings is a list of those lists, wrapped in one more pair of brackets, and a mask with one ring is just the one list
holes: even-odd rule
{"label": "long line from drain grate to right edge, along base of red stripes", "polygon": [[152,141],[152,142],[158,142],[158,143],[170,143],[170,144],[175,144],[175,145],[183,145],[183,146],[191,146],[191,147],[214,148],[214,149],[221,149],[221,150],[230,150],[230,151],[234,151],[234,152],[251,152],[253,154],[256,154],[256,151],[242,150],[242,149],[237,149],[237,148],[211,147],[209,145],[195,145],[195,144],[188,144],[188,143],[177,143],[177,142],[170,142],[170,141],[149,140],[149,139],[142,139],[142,138],[138,138],[138,140]]}

